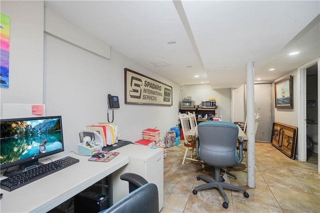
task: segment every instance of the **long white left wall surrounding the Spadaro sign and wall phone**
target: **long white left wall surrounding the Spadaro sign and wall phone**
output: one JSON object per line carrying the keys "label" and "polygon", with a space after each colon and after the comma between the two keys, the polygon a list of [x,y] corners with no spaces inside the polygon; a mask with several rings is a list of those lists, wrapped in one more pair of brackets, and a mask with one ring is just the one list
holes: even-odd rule
{"label": "long white left wall surrounding the Spadaro sign and wall phone", "polygon": [[[11,17],[11,29],[14,29],[10,34],[10,87],[1,88],[1,108],[3,103],[36,102],[45,104],[46,115],[62,115],[65,151],[77,150],[78,132],[85,125],[107,121],[108,93],[119,96],[120,108],[114,110],[114,124],[120,128],[120,138],[135,141],[142,138],[142,129],[148,127],[157,127],[164,135],[178,123],[180,86],[177,83],[112,47],[110,59],[106,59],[43,33],[41,1],[1,1],[1,12]],[[24,25],[31,25],[36,33],[28,36],[31,32]],[[38,50],[39,47],[33,46],[44,48]],[[33,49],[37,57],[32,56]],[[124,104],[124,68],[171,85],[173,105]]]}

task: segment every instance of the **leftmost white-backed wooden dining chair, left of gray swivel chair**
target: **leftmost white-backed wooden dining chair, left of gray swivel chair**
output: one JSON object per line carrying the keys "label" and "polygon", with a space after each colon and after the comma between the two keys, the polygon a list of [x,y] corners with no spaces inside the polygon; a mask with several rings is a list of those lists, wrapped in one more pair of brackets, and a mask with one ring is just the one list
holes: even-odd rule
{"label": "leftmost white-backed wooden dining chair, left of gray swivel chair", "polygon": [[[185,134],[185,132],[187,132],[191,129],[190,115],[185,114],[185,113],[179,113],[179,119],[180,119],[183,137],[184,137],[183,144],[185,146],[185,152],[184,152],[184,156],[183,156],[183,160],[182,160],[182,165],[183,165],[185,159],[189,159],[189,160],[193,160],[193,161],[198,161],[198,160],[195,159],[196,155],[193,155],[193,151],[195,149],[195,135]],[[191,148],[191,149],[189,149],[189,148]],[[187,157],[188,152],[190,153],[190,157]]]}

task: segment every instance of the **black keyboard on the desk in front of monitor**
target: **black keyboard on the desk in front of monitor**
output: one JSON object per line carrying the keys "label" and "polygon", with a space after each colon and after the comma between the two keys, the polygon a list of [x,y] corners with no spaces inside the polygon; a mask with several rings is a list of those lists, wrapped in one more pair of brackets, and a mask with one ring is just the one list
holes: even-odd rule
{"label": "black keyboard on the desk in front of monitor", "polygon": [[10,176],[1,180],[0,186],[2,189],[12,191],[37,179],[40,179],[46,175],[52,174],[62,168],[66,168],[74,163],[79,162],[79,159],[66,156],[55,161],[39,165],[30,170],[23,171],[21,173]]}

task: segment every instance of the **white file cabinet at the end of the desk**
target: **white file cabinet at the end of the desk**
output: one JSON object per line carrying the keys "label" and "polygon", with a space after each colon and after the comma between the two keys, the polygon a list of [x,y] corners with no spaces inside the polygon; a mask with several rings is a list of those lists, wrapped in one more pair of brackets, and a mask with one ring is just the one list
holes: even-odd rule
{"label": "white file cabinet at the end of the desk", "polygon": [[148,182],[156,184],[160,210],[163,206],[163,149],[129,144],[114,151],[129,155],[129,163],[112,173],[112,203],[129,193],[128,183],[121,180],[120,175],[132,172],[141,175]]}

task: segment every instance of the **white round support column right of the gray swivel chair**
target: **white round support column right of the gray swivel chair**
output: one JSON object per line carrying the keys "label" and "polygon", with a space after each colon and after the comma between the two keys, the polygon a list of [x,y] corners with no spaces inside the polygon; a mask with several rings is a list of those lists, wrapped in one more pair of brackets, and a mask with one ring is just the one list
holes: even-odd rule
{"label": "white round support column right of the gray swivel chair", "polygon": [[254,132],[254,62],[246,63],[246,136],[247,141],[247,184],[255,188],[255,132]]}

